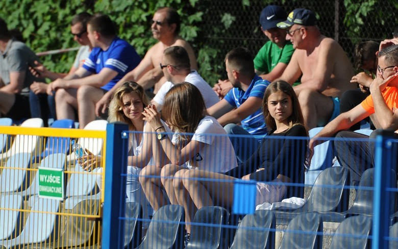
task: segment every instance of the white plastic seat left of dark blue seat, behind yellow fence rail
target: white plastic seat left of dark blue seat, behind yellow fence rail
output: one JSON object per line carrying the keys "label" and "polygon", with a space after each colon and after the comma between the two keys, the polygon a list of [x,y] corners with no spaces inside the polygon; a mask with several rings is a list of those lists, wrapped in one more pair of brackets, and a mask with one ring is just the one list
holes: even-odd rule
{"label": "white plastic seat left of dark blue seat, behind yellow fence rail", "polygon": [[[20,127],[41,128],[43,127],[41,118],[29,118]],[[35,135],[16,135],[15,139],[6,153],[2,154],[1,159],[5,160],[17,153],[30,153],[33,157],[41,154],[43,138]]]}

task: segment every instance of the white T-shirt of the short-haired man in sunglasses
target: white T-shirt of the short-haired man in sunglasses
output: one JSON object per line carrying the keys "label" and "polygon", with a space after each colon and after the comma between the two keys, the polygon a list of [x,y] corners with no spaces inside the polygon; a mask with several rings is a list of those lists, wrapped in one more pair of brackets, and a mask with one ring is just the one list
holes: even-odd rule
{"label": "white T-shirt of the short-haired man in sunglasses", "polygon": [[[217,94],[213,91],[210,85],[197,73],[197,71],[192,70],[187,77],[185,77],[185,82],[191,83],[199,91],[202,93],[203,100],[205,101],[206,108],[211,107],[215,103],[219,101]],[[158,93],[156,93],[154,97],[154,101],[158,103],[160,106],[163,106],[164,97],[168,90],[173,87],[174,84],[172,82],[165,82],[159,89]]]}

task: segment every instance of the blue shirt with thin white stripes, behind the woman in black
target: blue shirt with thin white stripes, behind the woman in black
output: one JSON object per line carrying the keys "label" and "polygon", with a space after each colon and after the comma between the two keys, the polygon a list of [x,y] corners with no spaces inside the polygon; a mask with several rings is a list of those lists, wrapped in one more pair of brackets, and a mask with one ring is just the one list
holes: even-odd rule
{"label": "blue shirt with thin white stripes, behind the woman in black", "polygon": [[[249,97],[258,97],[263,99],[265,89],[267,88],[269,83],[269,81],[261,79],[261,77],[256,74],[246,91],[234,87],[225,95],[224,99],[231,106],[238,108]],[[252,135],[267,134],[267,128],[265,126],[265,120],[261,111],[261,107],[254,113],[248,115],[245,119],[243,119],[241,121],[241,125],[244,130]]]}

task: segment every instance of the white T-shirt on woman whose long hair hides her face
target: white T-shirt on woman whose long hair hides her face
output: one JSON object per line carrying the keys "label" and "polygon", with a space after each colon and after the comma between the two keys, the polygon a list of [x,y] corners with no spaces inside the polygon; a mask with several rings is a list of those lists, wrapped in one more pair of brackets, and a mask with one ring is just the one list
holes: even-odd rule
{"label": "white T-shirt on woman whose long hair hides her face", "polygon": [[[231,140],[214,117],[205,116],[199,122],[192,140],[205,143],[205,146],[186,162],[188,168],[226,172],[238,166]],[[177,144],[180,141],[180,134],[174,133],[171,141]]]}

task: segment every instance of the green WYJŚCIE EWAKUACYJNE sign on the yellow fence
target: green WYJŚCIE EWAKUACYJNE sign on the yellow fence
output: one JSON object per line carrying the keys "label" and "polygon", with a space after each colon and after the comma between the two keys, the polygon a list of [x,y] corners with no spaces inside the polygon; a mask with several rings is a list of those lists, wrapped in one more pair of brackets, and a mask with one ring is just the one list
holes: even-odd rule
{"label": "green WYJ\u015aCIE EWAKUACYJNE sign on the yellow fence", "polygon": [[64,170],[39,167],[39,197],[64,199]]}

